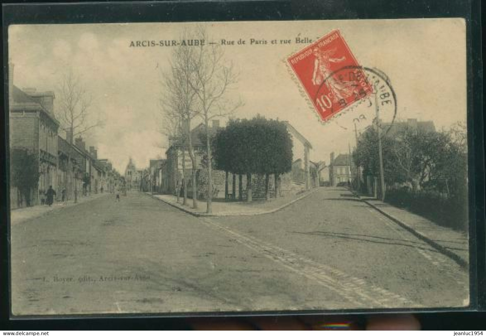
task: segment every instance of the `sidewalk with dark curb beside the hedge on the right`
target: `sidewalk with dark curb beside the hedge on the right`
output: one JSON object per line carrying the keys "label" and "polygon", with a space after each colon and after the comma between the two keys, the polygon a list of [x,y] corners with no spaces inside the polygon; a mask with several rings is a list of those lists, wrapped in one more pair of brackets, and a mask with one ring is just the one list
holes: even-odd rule
{"label": "sidewalk with dark curb beside the hedge on the right", "polygon": [[469,264],[469,243],[466,232],[444,228],[415,213],[396,208],[375,198],[365,196],[360,198],[364,203],[409,230],[459,265],[466,267]]}

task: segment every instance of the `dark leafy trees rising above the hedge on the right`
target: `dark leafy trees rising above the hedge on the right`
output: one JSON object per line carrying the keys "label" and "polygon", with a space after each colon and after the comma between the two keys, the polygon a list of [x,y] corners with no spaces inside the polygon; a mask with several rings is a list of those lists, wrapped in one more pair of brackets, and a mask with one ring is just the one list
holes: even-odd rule
{"label": "dark leafy trees rising above the hedge on the right", "polygon": [[[431,184],[449,195],[461,193],[467,181],[466,127],[455,124],[448,131],[402,127],[382,138],[385,183],[407,183],[412,190]],[[378,134],[368,128],[353,153],[365,174],[379,174]]]}

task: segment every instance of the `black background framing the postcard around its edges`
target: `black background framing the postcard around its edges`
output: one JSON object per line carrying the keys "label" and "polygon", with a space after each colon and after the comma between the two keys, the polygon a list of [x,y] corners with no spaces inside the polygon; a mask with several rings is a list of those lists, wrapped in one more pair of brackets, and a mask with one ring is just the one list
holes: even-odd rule
{"label": "black background framing the postcard around its edges", "polygon": [[[7,1],[8,2],[8,1]],[[2,36],[10,23],[102,23],[163,21],[230,21],[353,18],[457,18],[468,27],[468,133],[470,181],[471,308],[485,310],[484,152],[482,115],[482,49],[480,0],[274,0],[274,1],[162,1],[37,4],[4,4]],[[419,38],[419,36],[417,36]],[[6,83],[7,46],[2,44],[2,83]],[[444,51],[447,52],[447,51]],[[443,73],[447,77],[447,73]],[[6,92],[4,85],[4,92]],[[4,95],[6,96],[6,95]],[[1,120],[6,118],[6,102]],[[4,129],[1,134],[8,135]],[[184,318],[69,318],[9,319],[7,190],[8,136],[0,137],[0,260],[2,330],[180,330],[189,329]],[[476,259],[477,257],[477,259]],[[477,267],[476,267],[477,266]],[[477,278],[476,278],[477,274]],[[475,279],[478,279],[476,282]],[[478,291],[478,289],[480,289]],[[478,302],[475,302],[475,298]],[[477,303],[477,304],[476,304]],[[354,315],[361,321],[373,312]],[[478,311],[416,313],[425,330],[486,330],[486,314]],[[224,317],[221,317],[222,319]],[[280,317],[285,318],[285,317]]]}

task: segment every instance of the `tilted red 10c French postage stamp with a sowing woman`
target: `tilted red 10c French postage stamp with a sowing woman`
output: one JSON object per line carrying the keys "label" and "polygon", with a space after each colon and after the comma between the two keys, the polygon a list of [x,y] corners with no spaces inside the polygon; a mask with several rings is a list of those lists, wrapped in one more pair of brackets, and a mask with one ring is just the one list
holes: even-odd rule
{"label": "tilted red 10c French postage stamp with a sowing woman", "polygon": [[322,121],[373,92],[339,30],[333,30],[287,61]]}

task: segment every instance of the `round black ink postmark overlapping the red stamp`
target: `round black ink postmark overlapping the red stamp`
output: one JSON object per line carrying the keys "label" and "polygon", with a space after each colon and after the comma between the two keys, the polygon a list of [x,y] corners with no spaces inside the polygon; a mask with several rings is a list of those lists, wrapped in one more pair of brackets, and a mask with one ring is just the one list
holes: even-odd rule
{"label": "round black ink postmark overlapping the red stamp", "polygon": [[331,110],[333,117],[326,124],[356,133],[370,126],[379,127],[381,137],[397,117],[397,96],[388,76],[361,66],[331,72],[317,90],[314,105]]}

